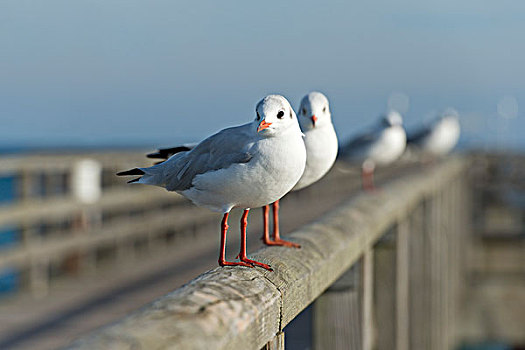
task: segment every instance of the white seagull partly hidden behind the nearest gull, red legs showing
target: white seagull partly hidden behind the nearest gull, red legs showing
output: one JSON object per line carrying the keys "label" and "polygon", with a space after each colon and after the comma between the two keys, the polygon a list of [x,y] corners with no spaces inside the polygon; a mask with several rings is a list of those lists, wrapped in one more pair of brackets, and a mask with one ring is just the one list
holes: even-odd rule
{"label": "white seagull partly hidden behind the nearest gull, red legs showing", "polygon": [[[319,181],[332,168],[337,157],[337,135],[332,124],[328,99],[320,92],[310,92],[301,100],[299,107],[299,125],[304,133],[306,146],[306,167],[303,176],[292,191],[297,191]],[[263,207],[263,242],[266,245],[278,245],[300,248],[297,243],[285,241],[279,235],[279,200],[272,204],[273,239],[268,229],[270,206]]]}

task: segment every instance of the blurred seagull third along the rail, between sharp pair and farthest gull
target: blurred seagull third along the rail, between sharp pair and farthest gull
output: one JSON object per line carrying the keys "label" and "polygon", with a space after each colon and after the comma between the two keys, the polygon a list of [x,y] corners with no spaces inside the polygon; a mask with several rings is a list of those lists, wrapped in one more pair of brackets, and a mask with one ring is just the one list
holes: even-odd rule
{"label": "blurred seagull third along the rail, between sharp pair and farthest gull", "polygon": [[360,164],[363,189],[374,191],[376,165],[391,164],[403,154],[405,148],[403,118],[398,112],[390,111],[370,132],[358,135],[348,142],[342,151],[342,157]]}

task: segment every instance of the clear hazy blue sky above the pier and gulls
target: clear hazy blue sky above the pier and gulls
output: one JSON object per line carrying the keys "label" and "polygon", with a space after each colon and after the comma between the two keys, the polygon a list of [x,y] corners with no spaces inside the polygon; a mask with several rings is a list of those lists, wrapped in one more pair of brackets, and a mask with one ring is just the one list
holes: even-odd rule
{"label": "clear hazy blue sky above the pier and gulls", "polygon": [[[169,145],[320,90],[342,138],[394,92],[468,142],[525,146],[522,1],[0,2],[0,144]],[[515,99],[502,121],[497,103]]]}

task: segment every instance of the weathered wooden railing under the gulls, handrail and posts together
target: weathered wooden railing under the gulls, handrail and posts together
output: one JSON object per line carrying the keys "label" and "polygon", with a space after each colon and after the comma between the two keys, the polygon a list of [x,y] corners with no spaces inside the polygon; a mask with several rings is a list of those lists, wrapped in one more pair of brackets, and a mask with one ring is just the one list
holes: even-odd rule
{"label": "weathered wooden railing under the gulls, handrail and posts together", "polygon": [[[316,349],[445,349],[456,342],[469,222],[468,161],[362,193],[253,254],[274,272],[216,268],[75,349],[283,349],[314,302]],[[344,182],[344,178],[340,179]]]}

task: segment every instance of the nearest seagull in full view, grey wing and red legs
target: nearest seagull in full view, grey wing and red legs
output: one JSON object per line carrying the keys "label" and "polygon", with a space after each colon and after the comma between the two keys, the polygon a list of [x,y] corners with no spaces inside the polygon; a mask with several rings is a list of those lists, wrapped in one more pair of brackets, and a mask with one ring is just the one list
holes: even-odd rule
{"label": "nearest seagull in full view, grey wing and red legs", "polygon": [[[251,123],[227,128],[190,150],[148,168],[117,175],[139,175],[129,181],[166,188],[198,206],[223,214],[220,266],[260,266],[246,255],[246,226],[250,208],[273,203],[288,193],[301,178],[306,165],[303,134],[290,103],[269,95],[255,108]],[[240,261],[226,261],[228,215],[244,209],[241,217]]]}

